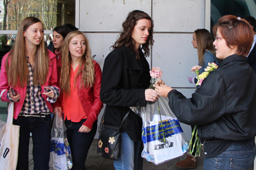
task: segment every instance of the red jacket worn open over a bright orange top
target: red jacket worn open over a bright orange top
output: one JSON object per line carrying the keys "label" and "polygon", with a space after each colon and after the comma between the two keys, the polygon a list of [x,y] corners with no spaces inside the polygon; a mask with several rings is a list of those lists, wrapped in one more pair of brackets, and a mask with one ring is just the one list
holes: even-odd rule
{"label": "red jacket worn open over a bright orange top", "polygon": [[[100,65],[96,61],[94,63],[94,84],[91,88],[80,88],[81,84],[81,76],[80,73],[77,75],[77,92],[79,95],[79,99],[86,113],[87,119],[83,125],[87,126],[88,128],[92,129],[93,123],[97,120],[98,114],[100,114],[101,109],[103,108],[103,103],[100,100],[100,90],[101,90],[101,77],[102,71]],[[58,63],[58,67],[61,67],[61,62]],[[83,67],[81,68],[83,69]],[[58,83],[59,84],[59,83]],[[61,107],[63,94],[60,94],[59,99],[53,103],[53,108]],[[62,109],[62,108],[61,108]]]}

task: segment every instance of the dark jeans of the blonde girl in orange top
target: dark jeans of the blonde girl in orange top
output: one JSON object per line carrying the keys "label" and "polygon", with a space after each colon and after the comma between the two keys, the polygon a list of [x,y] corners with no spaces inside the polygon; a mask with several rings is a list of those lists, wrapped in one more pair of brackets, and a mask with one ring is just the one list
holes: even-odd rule
{"label": "dark jeans of the blonde girl in orange top", "polygon": [[73,167],[72,170],[85,169],[85,160],[93,142],[94,136],[97,131],[97,121],[94,122],[92,130],[89,133],[79,132],[79,128],[86,121],[86,118],[80,122],[72,122],[71,120],[65,120],[67,126],[67,138],[71,147],[71,155]]}

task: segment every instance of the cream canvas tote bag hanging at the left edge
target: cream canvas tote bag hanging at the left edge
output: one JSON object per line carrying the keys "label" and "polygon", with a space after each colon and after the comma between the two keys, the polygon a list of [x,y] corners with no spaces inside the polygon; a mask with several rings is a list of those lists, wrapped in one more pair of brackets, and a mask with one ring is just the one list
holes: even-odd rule
{"label": "cream canvas tote bag hanging at the left edge", "polygon": [[[3,92],[1,92],[0,101]],[[7,123],[0,129],[0,169],[15,170],[18,161],[19,126],[13,125],[14,103],[8,108]]]}

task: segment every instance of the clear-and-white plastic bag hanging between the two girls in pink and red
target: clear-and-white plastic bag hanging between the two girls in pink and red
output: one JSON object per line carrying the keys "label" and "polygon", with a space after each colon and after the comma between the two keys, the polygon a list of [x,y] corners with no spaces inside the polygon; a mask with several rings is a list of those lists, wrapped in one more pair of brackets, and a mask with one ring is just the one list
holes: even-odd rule
{"label": "clear-and-white plastic bag hanging between the two girls in pink and red", "polygon": [[58,113],[53,119],[51,138],[50,166],[53,169],[71,169],[71,150],[67,140],[67,127],[64,124],[62,114]]}

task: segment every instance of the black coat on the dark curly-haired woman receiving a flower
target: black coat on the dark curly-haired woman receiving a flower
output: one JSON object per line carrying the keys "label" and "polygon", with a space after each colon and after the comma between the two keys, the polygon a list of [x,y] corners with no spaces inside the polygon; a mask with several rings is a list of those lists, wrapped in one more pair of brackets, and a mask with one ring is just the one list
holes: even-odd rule
{"label": "black coat on the dark curly-haired woman receiving a flower", "polygon": [[[129,107],[146,106],[145,90],[150,85],[150,67],[141,50],[141,61],[126,46],[109,53],[101,80],[101,101],[106,104],[105,124],[120,126]],[[122,125],[131,140],[141,140],[142,119],[133,111]]]}

